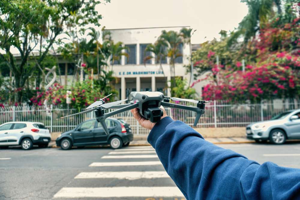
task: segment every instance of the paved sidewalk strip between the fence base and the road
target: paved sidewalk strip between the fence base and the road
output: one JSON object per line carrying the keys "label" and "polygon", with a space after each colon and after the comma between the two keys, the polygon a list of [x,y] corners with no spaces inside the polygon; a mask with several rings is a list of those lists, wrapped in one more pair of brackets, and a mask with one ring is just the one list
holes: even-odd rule
{"label": "paved sidewalk strip between the fence base and the road", "polygon": [[[213,144],[243,144],[243,143],[254,143],[254,140],[248,140],[242,137],[232,137],[232,138],[205,138],[205,140]],[[149,146],[147,142],[147,137],[145,136],[135,136],[134,141],[130,142],[129,146]],[[49,143],[49,147],[56,148],[55,141]]]}

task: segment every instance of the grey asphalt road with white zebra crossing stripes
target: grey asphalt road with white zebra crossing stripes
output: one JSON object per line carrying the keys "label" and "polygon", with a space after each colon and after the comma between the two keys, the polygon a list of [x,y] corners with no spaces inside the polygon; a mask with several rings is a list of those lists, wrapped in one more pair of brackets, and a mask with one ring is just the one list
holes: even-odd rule
{"label": "grey asphalt road with white zebra crossing stripes", "polygon": [[[300,143],[220,144],[259,163],[300,168]],[[143,187],[137,188],[137,187]],[[153,194],[158,194],[154,196]],[[171,195],[172,197],[168,196]],[[105,197],[103,197],[105,196]],[[135,197],[134,197],[135,196]],[[182,200],[149,146],[0,150],[0,199]],[[69,198],[72,197],[72,198]]]}

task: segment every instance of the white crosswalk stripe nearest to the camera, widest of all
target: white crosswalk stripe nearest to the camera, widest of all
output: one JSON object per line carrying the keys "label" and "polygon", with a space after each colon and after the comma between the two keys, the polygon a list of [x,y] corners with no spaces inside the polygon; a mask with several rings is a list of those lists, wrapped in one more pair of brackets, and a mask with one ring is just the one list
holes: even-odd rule
{"label": "white crosswalk stripe nearest to the camera, widest of all", "polygon": [[54,198],[183,197],[177,187],[63,187]]}

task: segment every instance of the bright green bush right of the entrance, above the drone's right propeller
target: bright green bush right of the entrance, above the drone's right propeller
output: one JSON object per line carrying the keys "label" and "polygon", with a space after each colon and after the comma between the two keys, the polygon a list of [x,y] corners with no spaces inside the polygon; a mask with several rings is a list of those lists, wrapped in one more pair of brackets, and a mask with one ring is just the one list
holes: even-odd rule
{"label": "bright green bush right of the entrance, above the drone's right propeller", "polygon": [[[173,81],[173,80],[171,80]],[[194,98],[196,95],[196,90],[187,85],[187,79],[182,79],[182,77],[176,77],[174,87],[171,90],[171,95],[178,98]]]}

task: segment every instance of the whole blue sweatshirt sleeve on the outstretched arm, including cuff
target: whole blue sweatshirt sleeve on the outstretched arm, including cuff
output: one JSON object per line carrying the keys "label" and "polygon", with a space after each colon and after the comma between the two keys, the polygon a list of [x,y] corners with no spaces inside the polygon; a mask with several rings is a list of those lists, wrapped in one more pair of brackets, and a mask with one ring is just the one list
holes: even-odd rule
{"label": "whole blue sweatshirt sleeve on the outstretched arm, including cuff", "polygon": [[188,200],[300,199],[300,169],[259,165],[205,141],[181,121],[164,117],[148,141]]}

